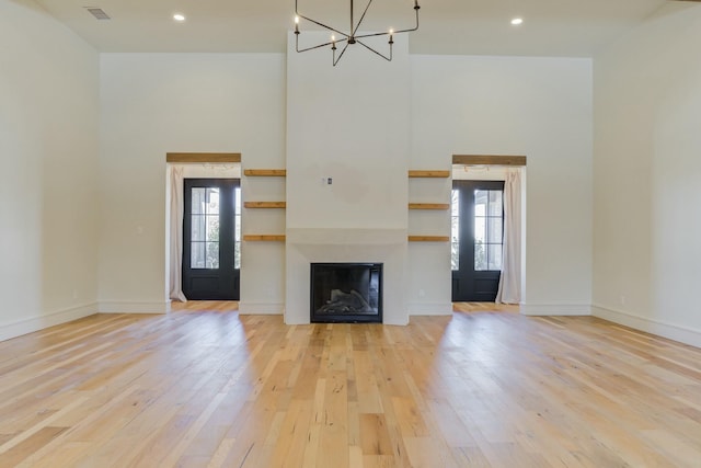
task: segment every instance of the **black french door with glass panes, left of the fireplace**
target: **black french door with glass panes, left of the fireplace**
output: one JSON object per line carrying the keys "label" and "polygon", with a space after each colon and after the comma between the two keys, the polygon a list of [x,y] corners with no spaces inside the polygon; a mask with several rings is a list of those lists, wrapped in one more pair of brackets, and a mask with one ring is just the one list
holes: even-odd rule
{"label": "black french door with glass panes, left of the fireplace", "polygon": [[238,179],[185,179],[183,293],[239,300],[241,191]]}

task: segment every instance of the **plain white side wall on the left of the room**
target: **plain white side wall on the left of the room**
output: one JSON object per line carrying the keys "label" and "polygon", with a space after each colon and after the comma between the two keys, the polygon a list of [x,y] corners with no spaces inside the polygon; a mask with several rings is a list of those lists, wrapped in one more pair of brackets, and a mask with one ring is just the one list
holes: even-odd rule
{"label": "plain white side wall on the left of the room", "polygon": [[0,2],[0,340],[96,310],[97,54]]}

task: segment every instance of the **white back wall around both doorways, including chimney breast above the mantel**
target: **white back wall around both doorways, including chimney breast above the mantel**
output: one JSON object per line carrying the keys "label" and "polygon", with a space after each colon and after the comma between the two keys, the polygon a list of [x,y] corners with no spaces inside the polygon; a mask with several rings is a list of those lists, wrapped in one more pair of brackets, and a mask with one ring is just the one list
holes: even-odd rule
{"label": "white back wall around both doorways, including chimney breast above the mantel", "polygon": [[[449,199],[449,180],[422,186],[428,182],[407,182],[406,169],[450,169],[453,153],[527,155],[525,311],[589,311],[590,60],[410,56],[409,71],[392,75],[390,68],[391,85],[377,94],[368,90],[378,80],[343,78],[352,58],[336,68],[321,58],[319,79],[331,84],[313,93],[298,83],[301,78],[290,78],[295,96],[286,104],[283,56],[103,55],[103,309],[164,310],[165,152],[240,151],[244,168],[288,169],[287,181],[243,178],[244,199],[286,195],[288,202],[287,226],[268,210],[244,210],[244,233],[374,227],[448,235],[446,213],[414,216],[405,206],[414,197]],[[353,87],[364,91],[354,94]],[[406,89],[409,94],[401,91]],[[404,110],[397,109],[402,93],[409,95]],[[309,99],[317,100],[311,107]],[[388,99],[394,109],[380,105]],[[287,135],[286,113],[294,119]],[[392,122],[404,122],[404,130]],[[313,138],[304,128],[313,129]],[[401,132],[404,142],[395,137]],[[370,151],[376,145],[381,150]],[[334,185],[322,187],[321,176],[334,178]],[[359,202],[350,194],[359,186],[375,187],[365,202],[379,197],[382,204],[355,209]],[[319,209],[308,209],[312,202]],[[413,243],[409,250],[409,310],[449,312],[448,244]],[[289,287],[284,269],[281,243],[246,242],[242,310],[280,311]]]}

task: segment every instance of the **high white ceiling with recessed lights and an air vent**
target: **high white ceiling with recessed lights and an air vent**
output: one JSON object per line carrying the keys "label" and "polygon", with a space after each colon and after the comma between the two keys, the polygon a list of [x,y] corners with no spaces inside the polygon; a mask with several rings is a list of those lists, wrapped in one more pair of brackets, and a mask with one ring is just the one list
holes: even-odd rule
{"label": "high white ceiling with recessed lights and an air vent", "polygon": [[[295,0],[36,1],[101,52],[281,53],[295,14]],[[348,22],[349,1],[298,0],[300,13],[340,27]],[[366,1],[356,0],[356,10]],[[401,28],[407,12],[411,24],[412,0],[374,1],[364,24],[377,21],[382,30]],[[413,54],[571,57],[591,56],[663,5],[701,8],[670,0],[420,0],[420,4],[421,27],[410,36]],[[104,10],[111,20],[96,20],[85,7]],[[186,21],[174,22],[175,12],[185,14]],[[514,16],[521,16],[524,24],[512,26]]]}

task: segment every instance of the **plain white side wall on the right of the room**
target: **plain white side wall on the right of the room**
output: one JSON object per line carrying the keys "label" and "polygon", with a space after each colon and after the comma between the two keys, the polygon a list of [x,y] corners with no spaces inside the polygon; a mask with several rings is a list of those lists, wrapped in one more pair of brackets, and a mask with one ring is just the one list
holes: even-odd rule
{"label": "plain white side wall on the right of the room", "polygon": [[701,345],[701,9],[595,59],[595,313]]}

